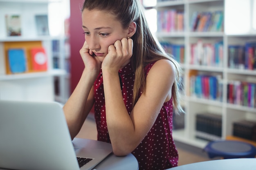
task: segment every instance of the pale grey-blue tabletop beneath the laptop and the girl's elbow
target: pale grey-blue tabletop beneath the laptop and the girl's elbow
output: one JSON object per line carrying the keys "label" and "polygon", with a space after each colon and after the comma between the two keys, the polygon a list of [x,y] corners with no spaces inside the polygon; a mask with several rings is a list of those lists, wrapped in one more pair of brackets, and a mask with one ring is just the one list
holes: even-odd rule
{"label": "pale grey-blue tabletop beneath the laptop and the girl's elbow", "polygon": [[[74,146],[83,146],[89,143],[94,142],[94,140],[90,139],[81,139],[81,138],[74,138],[72,141]],[[108,143],[102,143],[102,148],[110,147]],[[129,154],[125,157],[117,157],[113,154],[109,155],[104,159],[101,163],[99,163],[94,169],[96,170],[138,170],[139,164],[137,159],[132,155]]]}

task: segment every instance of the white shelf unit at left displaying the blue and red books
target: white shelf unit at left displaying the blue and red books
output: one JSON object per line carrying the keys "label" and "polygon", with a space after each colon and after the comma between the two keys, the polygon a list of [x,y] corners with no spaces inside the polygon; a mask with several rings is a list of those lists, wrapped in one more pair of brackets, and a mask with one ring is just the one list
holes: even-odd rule
{"label": "white shelf unit at left displaying the blue and red books", "polygon": [[[65,60],[64,18],[59,17],[65,0],[0,0],[0,99],[27,101],[57,101],[64,103],[69,97],[69,81]],[[50,6],[54,13],[49,11]],[[57,11],[57,12],[56,12]],[[20,36],[8,36],[5,22],[6,15],[20,15]],[[48,15],[50,27],[61,28],[54,33],[39,35],[35,15]],[[52,18],[59,17],[59,22]],[[42,33],[41,33],[42,34]],[[54,42],[58,41],[58,51],[54,51]],[[43,47],[47,56],[47,68],[35,71],[30,67],[32,47]],[[23,48],[26,51],[27,70],[22,73],[11,73],[7,51],[9,48]],[[58,66],[54,66],[54,56],[58,57]],[[55,79],[59,83],[56,86]],[[56,90],[58,93],[56,93]]]}

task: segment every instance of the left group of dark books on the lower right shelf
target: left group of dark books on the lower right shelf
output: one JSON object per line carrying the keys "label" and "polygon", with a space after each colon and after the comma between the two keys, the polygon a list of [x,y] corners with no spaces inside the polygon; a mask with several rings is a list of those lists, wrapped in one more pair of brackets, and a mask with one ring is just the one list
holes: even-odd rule
{"label": "left group of dark books on the lower right shelf", "polygon": [[196,115],[195,137],[209,141],[220,140],[222,135],[222,116],[214,113]]}

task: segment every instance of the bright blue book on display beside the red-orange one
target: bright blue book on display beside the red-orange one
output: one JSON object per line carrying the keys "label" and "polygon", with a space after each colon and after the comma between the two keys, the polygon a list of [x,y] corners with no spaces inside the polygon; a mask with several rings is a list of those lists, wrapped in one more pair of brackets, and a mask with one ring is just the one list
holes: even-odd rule
{"label": "bright blue book on display beside the red-orange one", "polygon": [[24,49],[8,49],[8,62],[11,73],[27,71],[27,57]]}

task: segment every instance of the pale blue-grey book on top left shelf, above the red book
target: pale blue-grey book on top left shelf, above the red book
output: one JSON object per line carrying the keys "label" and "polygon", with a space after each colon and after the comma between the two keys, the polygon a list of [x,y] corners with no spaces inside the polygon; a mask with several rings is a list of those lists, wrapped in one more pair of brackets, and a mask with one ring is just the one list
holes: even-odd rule
{"label": "pale blue-grey book on top left shelf, above the red book", "polygon": [[49,35],[48,15],[35,15],[37,35]]}

